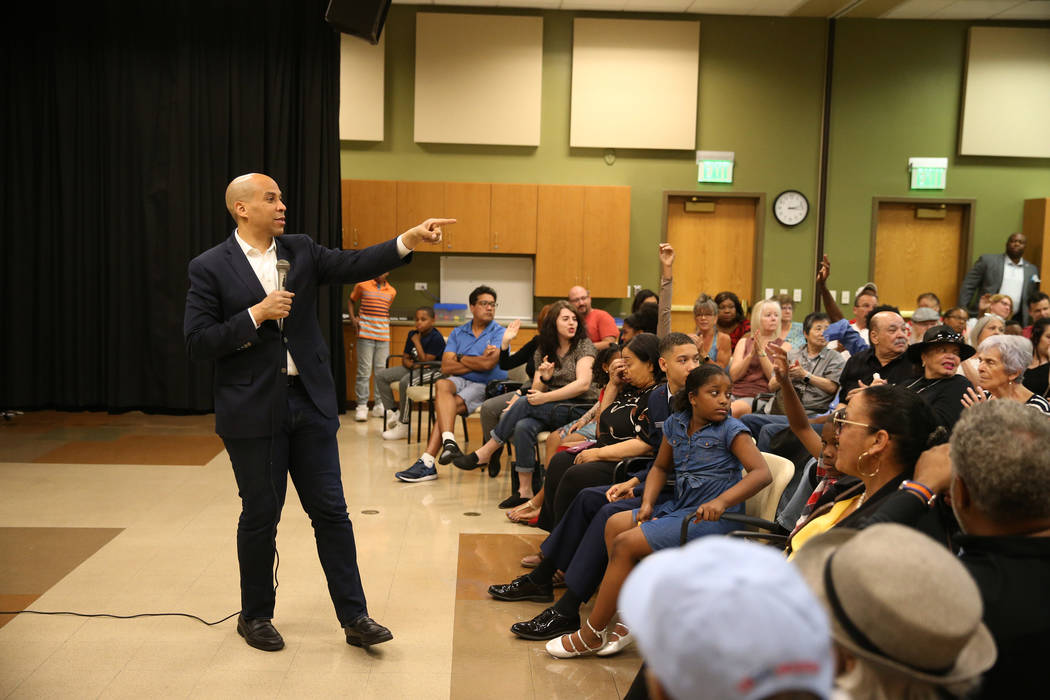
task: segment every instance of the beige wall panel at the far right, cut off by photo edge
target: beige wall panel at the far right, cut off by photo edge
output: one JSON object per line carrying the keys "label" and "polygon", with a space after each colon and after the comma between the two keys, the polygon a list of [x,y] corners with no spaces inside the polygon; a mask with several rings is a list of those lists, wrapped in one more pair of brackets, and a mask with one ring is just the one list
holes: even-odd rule
{"label": "beige wall panel at the far right, cut off by photo edge", "polygon": [[1050,157],[1050,29],[970,27],[961,155]]}

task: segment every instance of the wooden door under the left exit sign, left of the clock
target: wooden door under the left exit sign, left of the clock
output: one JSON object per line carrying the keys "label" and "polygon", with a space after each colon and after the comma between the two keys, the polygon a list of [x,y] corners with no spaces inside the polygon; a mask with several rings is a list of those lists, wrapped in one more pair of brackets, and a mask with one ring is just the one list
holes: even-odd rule
{"label": "wooden door under the left exit sign, left of the clock", "polygon": [[672,312],[671,324],[685,333],[695,330],[692,309],[700,293],[713,298],[729,291],[747,303],[755,280],[758,199],[701,197],[714,211],[686,211],[693,198],[672,195],[667,211],[667,240],[675,251],[671,304],[685,307]]}

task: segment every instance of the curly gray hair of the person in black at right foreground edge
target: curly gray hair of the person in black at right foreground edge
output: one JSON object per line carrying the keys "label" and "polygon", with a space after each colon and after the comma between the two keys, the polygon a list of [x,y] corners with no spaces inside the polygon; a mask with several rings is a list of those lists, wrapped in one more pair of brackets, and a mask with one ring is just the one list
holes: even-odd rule
{"label": "curly gray hair of the person in black at right foreground edge", "polygon": [[1016,401],[963,411],[951,433],[951,465],[981,512],[1010,523],[1050,517],[1050,420]]}

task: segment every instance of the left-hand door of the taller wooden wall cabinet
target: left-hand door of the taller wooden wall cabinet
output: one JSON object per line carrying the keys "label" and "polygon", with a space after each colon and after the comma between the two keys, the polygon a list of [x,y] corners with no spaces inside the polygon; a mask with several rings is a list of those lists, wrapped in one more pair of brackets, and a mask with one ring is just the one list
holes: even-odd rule
{"label": "left-hand door of the taller wooden wall cabinet", "polygon": [[537,196],[536,289],[538,297],[565,297],[580,284],[584,192],[572,185],[540,185]]}

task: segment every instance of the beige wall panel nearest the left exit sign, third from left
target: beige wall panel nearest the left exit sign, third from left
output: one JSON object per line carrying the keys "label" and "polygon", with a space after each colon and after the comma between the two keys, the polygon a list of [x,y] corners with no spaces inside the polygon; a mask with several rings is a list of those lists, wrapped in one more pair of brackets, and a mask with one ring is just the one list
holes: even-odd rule
{"label": "beige wall panel nearest the left exit sign, third from left", "polygon": [[572,23],[569,145],[696,148],[700,23]]}

